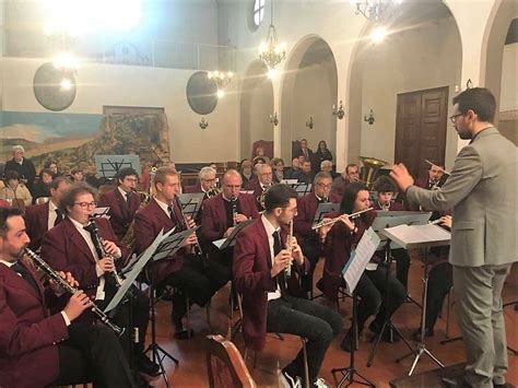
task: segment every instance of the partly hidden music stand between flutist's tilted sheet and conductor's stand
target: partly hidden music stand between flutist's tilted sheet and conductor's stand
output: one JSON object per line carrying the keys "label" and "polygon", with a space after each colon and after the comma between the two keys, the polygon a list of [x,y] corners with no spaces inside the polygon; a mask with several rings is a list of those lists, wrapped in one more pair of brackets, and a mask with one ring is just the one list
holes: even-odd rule
{"label": "partly hidden music stand between flutist's tilted sheet and conductor's stand", "polygon": [[[380,237],[380,245],[378,246],[377,250],[379,250],[380,247],[384,249],[385,263],[387,264],[387,273],[386,273],[386,279],[385,279],[385,287],[386,287],[385,303],[388,305],[390,301],[389,277],[390,277],[390,268],[392,264],[391,249],[398,249],[400,248],[400,246],[393,243],[390,238],[387,238],[387,236],[385,236],[381,233],[381,231],[386,227],[392,227],[392,226],[398,226],[398,225],[403,225],[403,224],[404,225],[425,225],[428,222],[432,213],[378,211],[377,214],[378,216],[374,220],[372,227],[377,233],[378,237]],[[403,337],[401,331],[396,326],[393,326],[388,315],[388,310],[386,309],[384,325],[381,326],[381,330],[379,331],[379,333],[376,336],[376,342],[368,356],[367,367],[370,367],[373,365],[374,355],[376,354],[376,350],[378,349],[379,342],[381,341],[381,338],[386,329],[392,330],[393,332],[396,332],[399,336],[399,338],[403,340],[407,348],[409,348],[409,350],[412,353],[415,352],[412,345],[409,343],[409,341],[407,341],[407,339]]]}

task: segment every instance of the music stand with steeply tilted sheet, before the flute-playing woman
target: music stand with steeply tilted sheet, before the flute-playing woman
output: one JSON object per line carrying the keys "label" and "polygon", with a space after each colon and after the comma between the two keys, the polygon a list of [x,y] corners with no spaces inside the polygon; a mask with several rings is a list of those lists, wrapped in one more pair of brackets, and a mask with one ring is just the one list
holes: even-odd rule
{"label": "music stand with steeply tilted sheet, before the flute-playing woman", "polygon": [[[345,263],[342,274],[343,279],[345,281],[345,289],[349,294],[352,293],[353,295],[353,339],[352,343],[356,343],[356,332],[357,332],[357,291],[356,291],[356,285],[360,281],[360,278],[362,277],[363,272],[365,271],[365,268],[367,267],[368,262],[370,261],[370,258],[373,257],[374,252],[376,251],[376,248],[379,244],[379,237],[378,235],[374,232],[372,227],[369,227],[367,231],[362,236],[362,239],[360,240],[358,245],[356,246],[356,249],[351,252],[351,257],[349,258],[348,262]],[[348,367],[342,367],[342,368],[333,368],[331,369],[331,373],[337,379],[335,374],[341,373],[343,376],[341,380],[338,383],[337,387],[341,387],[343,383],[349,381],[349,385],[352,385],[353,383],[358,383],[365,386],[369,387],[376,387],[376,385],[370,381],[367,377],[362,376],[355,368],[354,366],[354,353],[355,353],[355,345],[351,346],[351,358],[350,358],[350,364]],[[354,379],[354,375],[360,377],[363,381],[358,381]]]}

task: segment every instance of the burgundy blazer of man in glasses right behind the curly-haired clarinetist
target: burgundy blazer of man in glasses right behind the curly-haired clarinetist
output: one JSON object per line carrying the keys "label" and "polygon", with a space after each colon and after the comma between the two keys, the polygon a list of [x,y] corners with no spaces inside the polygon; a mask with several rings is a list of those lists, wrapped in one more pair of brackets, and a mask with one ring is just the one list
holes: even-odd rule
{"label": "burgundy blazer of man in glasses right behind the curly-haired clarinetist", "polygon": [[98,207],[109,207],[109,223],[119,239],[128,231],[129,225],[133,221],[134,213],[140,208],[140,196],[137,192],[133,192],[129,198],[129,203],[126,202],[118,188],[101,197]]}

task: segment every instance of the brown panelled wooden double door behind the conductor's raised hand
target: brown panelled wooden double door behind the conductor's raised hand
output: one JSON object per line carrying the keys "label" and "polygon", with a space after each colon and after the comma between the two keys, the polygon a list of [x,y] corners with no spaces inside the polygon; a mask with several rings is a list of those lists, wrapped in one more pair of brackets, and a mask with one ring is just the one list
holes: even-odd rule
{"label": "brown panelled wooden double door behind the conductor's raised hand", "polygon": [[414,178],[425,177],[425,160],[444,163],[448,120],[448,87],[398,94],[395,162]]}

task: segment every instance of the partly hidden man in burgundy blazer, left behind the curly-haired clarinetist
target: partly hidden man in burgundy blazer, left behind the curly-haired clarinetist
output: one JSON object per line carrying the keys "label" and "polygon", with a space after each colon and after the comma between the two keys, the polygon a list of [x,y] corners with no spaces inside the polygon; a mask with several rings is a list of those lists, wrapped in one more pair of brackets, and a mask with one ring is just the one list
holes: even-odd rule
{"label": "partly hidden man in burgundy blazer, left behind the curly-haired clarinetist", "polygon": [[42,204],[33,204],[25,209],[26,232],[28,237],[31,237],[28,247],[32,250],[38,251],[45,233],[63,221],[64,214],[59,210],[59,201],[69,187],[69,179],[63,176],[57,177],[50,183],[49,201]]}

